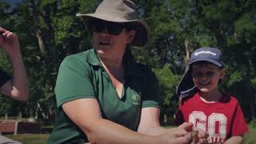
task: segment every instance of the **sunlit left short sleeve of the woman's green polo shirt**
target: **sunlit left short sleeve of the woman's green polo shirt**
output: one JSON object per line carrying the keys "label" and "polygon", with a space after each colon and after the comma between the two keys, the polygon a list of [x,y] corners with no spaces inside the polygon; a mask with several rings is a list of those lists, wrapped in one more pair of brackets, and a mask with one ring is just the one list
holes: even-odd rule
{"label": "sunlit left short sleeve of the woman's green polo shirt", "polygon": [[74,56],[62,61],[55,86],[57,106],[79,98],[95,98],[90,65]]}

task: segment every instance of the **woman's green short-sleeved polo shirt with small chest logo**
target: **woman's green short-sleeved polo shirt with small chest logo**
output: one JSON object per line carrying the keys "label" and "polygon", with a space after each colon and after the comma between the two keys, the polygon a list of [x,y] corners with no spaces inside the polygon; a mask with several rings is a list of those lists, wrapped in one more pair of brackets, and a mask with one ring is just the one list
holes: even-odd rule
{"label": "woman's green short-sleeved polo shirt with small chest logo", "polygon": [[136,131],[142,108],[159,107],[158,82],[146,66],[126,62],[125,67],[120,98],[94,49],[66,57],[58,71],[55,86],[58,110],[48,143],[88,142],[86,134],[62,110],[63,103],[79,98],[97,99],[102,118]]}

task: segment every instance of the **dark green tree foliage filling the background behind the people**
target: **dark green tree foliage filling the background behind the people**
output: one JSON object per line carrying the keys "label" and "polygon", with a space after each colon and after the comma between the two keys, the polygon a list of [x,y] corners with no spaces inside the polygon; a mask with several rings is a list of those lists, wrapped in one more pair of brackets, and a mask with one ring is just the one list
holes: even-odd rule
{"label": "dark green tree foliage filling the background behind the people", "polygon": [[[58,66],[69,54],[91,48],[90,34],[76,13],[92,13],[99,0],[24,0],[15,6],[0,2],[0,26],[18,34],[30,78],[30,101],[1,97],[0,114],[12,110],[53,122],[54,85]],[[151,30],[149,44],[134,48],[138,62],[158,77],[162,114],[178,106],[175,88],[186,70],[190,53],[215,46],[224,54],[227,70],[222,88],[236,96],[248,120],[256,104],[256,2],[254,0],[133,0],[139,18]],[[11,73],[0,53],[0,66]]]}

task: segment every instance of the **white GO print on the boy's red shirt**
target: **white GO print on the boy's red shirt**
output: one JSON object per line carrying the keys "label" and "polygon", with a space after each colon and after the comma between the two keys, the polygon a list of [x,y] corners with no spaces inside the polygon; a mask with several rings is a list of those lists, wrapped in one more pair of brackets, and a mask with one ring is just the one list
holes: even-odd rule
{"label": "white GO print on the boy's red shirt", "polygon": [[192,122],[194,126],[202,130],[206,130],[209,133],[209,137],[220,137],[221,139],[226,138],[227,118],[224,114],[212,113],[207,118],[204,112],[193,111],[190,114],[189,122]]}

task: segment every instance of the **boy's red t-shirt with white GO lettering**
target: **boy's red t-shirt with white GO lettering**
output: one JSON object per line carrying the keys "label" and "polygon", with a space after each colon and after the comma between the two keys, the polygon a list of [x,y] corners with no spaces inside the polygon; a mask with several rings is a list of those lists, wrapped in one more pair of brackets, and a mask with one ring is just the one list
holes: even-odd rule
{"label": "boy's red t-shirt with white GO lettering", "polygon": [[192,122],[209,133],[208,142],[224,142],[227,138],[243,135],[248,131],[238,100],[222,93],[219,102],[203,102],[199,94],[183,98],[175,123]]}

